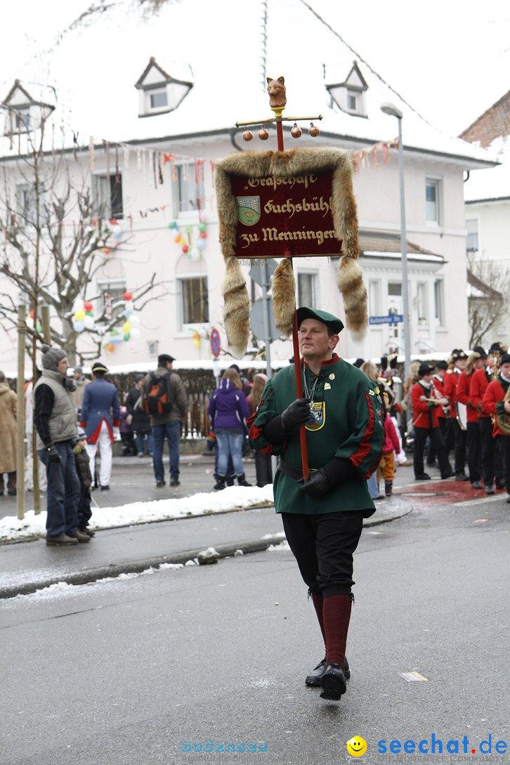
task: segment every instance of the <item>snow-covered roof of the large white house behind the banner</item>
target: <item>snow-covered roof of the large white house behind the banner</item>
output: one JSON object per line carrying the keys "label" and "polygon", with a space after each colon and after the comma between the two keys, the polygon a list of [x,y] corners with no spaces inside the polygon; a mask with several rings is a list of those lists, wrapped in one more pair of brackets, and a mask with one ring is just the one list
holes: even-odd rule
{"label": "snow-covered roof of the large white house behind the banner", "polygon": [[[34,57],[17,77],[24,83],[40,77],[41,70],[49,72],[47,84],[55,87],[58,98],[54,120],[69,123],[83,145],[90,135],[110,142],[147,142],[223,131],[242,120],[262,121],[273,116],[265,92],[268,73],[285,77],[284,116],[322,114],[325,138],[359,145],[395,138],[396,119],[380,110],[389,101],[404,115],[406,148],[461,158],[469,167],[493,161],[482,148],[430,125],[363,60],[357,63],[368,85],[366,119],[332,109],[323,62],[337,64],[347,77],[356,55],[300,2],[272,3],[266,25],[262,3],[244,4],[242,13],[235,0],[221,5],[219,13],[218,5],[206,0],[168,2],[154,15],[129,0],[102,5],[101,13],[88,15],[86,24],[72,24],[52,50]],[[190,66],[194,86],[173,112],[139,119],[135,83],[151,57],[176,78],[171,60]],[[0,82],[0,92],[8,93],[11,86]],[[190,147],[193,151],[199,153]]]}

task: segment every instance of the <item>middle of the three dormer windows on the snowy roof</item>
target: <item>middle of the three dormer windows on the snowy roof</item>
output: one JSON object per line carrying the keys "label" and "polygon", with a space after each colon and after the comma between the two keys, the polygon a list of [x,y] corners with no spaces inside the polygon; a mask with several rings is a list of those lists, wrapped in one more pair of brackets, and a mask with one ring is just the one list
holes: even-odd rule
{"label": "middle of the three dormer windows on the snowy roof", "polygon": [[177,109],[193,87],[191,70],[187,67],[182,79],[172,77],[151,57],[135,88],[138,90],[138,116],[149,117]]}

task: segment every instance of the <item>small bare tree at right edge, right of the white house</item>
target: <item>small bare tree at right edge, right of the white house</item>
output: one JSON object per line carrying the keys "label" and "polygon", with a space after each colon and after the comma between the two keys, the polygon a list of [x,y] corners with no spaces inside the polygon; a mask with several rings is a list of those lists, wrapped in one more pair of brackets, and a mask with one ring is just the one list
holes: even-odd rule
{"label": "small bare tree at right edge, right of the white house", "polygon": [[490,330],[504,319],[508,312],[506,295],[510,291],[510,269],[481,256],[468,260],[468,316],[469,347],[483,343]]}

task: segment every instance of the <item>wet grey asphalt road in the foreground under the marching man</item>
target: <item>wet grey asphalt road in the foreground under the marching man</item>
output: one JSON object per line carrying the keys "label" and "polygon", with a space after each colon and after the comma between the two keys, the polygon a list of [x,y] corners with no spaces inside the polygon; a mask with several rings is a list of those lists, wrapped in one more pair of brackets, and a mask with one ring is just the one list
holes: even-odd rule
{"label": "wet grey asphalt road in the foreground under the marching man", "polygon": [[[355,734],[365,763],[400,761],[378,741],[430,747],[432,734],[460,755],[438,760],[436,744],[405,761],[504,762],[509,532],[504,496],[365,530],[339,704],[304,686],[323,653],[290,552],[3,601],[0,763],[330,765],[352,762]],[[211,741],[267,752],[209,753]]]}

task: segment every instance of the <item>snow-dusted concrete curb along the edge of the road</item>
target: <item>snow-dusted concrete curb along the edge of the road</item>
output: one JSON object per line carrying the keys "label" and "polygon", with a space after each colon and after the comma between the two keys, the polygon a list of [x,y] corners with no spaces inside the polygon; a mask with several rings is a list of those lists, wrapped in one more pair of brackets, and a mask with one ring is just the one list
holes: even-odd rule
{"label": "snow-dusted concrete curb along the edge of the road", "polygon": [[[379,509],[380,506],[378,506]],[[388,507],[388,509],[390,509]],[[413,505],[408,500],[398,500],[398,507],[394,506],[391,513],[387,515],[381,507],[381,512],[378,515],[367,518],[363,521],[363,527],[369,528],[370,526],[381,526],[383,523],[398,520],[404,516],[412,513]],[[246,555],[250,552],[264,552],[268,549],[269,545],[278,545],[284,541],[284,537],[281,535],[273,534],[265,539],[246,539],[242,542],[233,542],[228,545],[216,545],[216,552],[219,553],[220,558],[232,557],[236,550],[242,550]],[[175,552],[171,555],[159,555],[157,558],[143,558],[138,561],[126,561],[119,564],[109,564],[106,566],[99,566],[98,568],[89,568],[87,571],[80,571],[71,574],[61,574],[55,576],[48,576],[41,578],[38,581],[25,582],[24,584],[12,584],[7,587],[0,587],[0,599],[6,599],[10,597],[16,597],[16,595],[28,595],[34,593],[37,590],[41,590],[46,587],[50,587],[51,584],[58,584],[59,582],[66,582],[67,584],[89,584],[93,581],[105,579],[108,577],[118,577],[121,574],[140,574],[141,571],[145,571],[147,568],[158,568],[162,563],[180,563],[185,564],[187,561],[197,558],[199,552],[202,552],[203,548],[184,550],[182,552]]]}

